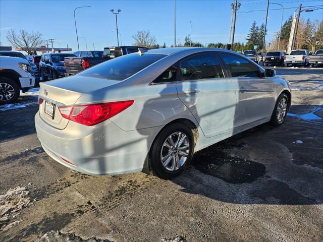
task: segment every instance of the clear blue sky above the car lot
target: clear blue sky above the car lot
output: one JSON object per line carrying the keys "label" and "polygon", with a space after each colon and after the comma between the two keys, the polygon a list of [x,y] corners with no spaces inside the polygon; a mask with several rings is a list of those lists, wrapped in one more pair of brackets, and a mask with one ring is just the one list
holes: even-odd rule
{"label": "clear blue sky above the car lot", "polygon": [[[192,41],[203,44],[210,42],[228,42],[231,7],[234,0],[218,1],[176,1],[176,34],[181,43],[190,32],[192,22]],[[266,0],[240,0],[241,8],[237,14],[236,41],[245,41],[248,30],[255,20],[258,25],[264,21]],[[284,21],[301,3],[303,6],[323,5],[323,0],[272,0],[285,9]],[[3,45],[8,45],[6,33],[9,29],[39,31],[44,39],[55,39],[54,47],[66,47],[67,44],[77,50],[73,11],[79,6],[92,6],[76,11],[79,36],[87,39],[88,49],[103,49],[104,46],[117,45],[115,15],[110,9],[121,9],[118,15],[118,28],[122,44],[131,45],[132,35],[138,30],[150,30],[157,42],[168,46],[174,43],[174,1],[10,1],[0,0],[0,34]],[[270,9],[281,8],[270,4]],[[311,7],[312,8],[312,7]],[[275,32],[279,31],[282,10],[270,10],[267,21],[271,42]],[[301,18],[310,20],[323,18],[323,9],[314,12],[302,12]],[[58,41],[58,42],[56,42]],[[120,40],[119,40],[120,41]],[[84,39],[79,39],[80,49],[85,49]]]}

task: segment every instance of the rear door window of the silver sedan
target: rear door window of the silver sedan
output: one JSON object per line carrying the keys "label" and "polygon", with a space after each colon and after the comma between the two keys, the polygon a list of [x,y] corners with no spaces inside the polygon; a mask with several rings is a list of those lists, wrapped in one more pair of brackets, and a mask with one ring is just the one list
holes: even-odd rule
{"label": "rear door window of the silver sedan", "polygon": [[223,71],[214,53],[193,55],[181,62],[182,80],[223,78]]}

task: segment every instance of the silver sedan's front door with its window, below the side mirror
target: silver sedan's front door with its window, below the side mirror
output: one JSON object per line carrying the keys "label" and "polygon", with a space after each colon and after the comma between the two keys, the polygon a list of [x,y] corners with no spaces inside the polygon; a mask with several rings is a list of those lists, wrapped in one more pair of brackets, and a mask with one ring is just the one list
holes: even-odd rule
{"label": "silver sedan's front door with its window, below the side mirror", "polygon": [[270,118],[275,106],[274,78],[264,77],[262,69],[242,56],[226,52],[219,55],[236,88],[235,129]]}

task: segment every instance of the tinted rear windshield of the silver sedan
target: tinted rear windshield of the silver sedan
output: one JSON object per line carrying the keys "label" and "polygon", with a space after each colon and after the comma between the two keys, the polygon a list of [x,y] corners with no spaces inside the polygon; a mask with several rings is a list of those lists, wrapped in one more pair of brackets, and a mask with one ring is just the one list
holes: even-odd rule
{"label": "tinted rear windshield of the silver sedan", "polygon": [[122,81],[165,56],[166,54],[127,54],[110,59],[110,61],[89,68],[78,75]]}

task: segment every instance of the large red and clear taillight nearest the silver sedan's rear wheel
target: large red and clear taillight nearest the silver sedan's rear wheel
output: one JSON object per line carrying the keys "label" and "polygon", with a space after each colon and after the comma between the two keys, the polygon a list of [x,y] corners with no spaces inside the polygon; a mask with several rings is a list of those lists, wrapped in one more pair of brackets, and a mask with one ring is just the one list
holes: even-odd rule
{"label": "large red and clear taillight nearest the silver sedan's rear wheel", "polygon": [[79,106],[59,107],[64,118],[76,123],[93,126],[122,112],[130,107],[134,100],[121,102],[108,102]]}

